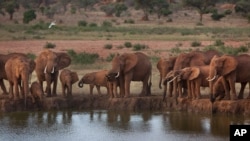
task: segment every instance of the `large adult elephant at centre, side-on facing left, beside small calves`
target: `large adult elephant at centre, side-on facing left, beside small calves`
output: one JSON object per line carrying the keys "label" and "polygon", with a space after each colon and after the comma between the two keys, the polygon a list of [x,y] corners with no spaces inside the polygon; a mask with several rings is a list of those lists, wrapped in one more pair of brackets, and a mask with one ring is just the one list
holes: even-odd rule
{"label": "large adult elephant at centre, side-on facing left, beside small calves", "polygon": [[112,60],[112,68],[107,77],[117,77],[120,84],[121,96],[130,96],[130,82],[142,81],[143,87],[140,95],[151,94],[152,64],[145,54],[141,52],[123,53]]}

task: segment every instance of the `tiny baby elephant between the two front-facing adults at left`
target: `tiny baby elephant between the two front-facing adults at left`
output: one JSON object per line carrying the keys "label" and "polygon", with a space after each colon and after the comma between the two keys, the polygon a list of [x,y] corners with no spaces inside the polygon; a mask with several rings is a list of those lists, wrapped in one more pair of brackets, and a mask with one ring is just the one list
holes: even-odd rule
{"label": "tiny baby elephant between the two front-facing adults at left", "polygon": [[35,103],[36,99],[40,99],[42,101],[43,98],[43,89],[42,86],[37,82],[33,82],[30,86],[30,93],[32,102]]}

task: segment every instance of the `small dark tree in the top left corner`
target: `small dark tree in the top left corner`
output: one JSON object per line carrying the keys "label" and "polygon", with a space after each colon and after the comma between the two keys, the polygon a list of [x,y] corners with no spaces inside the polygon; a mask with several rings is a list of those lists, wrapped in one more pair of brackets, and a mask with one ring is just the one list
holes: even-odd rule
{"label": "small dark tree in the top left corner", "polygon": [[13,14],[19,9],[19,4],[16,0],[8,0],[4,2],[5,11],[10,15],[10,20],[13,19]]}

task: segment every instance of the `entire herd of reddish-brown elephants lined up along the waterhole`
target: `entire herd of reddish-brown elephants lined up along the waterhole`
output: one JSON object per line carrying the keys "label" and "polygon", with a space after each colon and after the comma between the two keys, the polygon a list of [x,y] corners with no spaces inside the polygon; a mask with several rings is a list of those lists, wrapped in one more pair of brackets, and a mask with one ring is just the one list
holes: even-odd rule
{"label": "entire herd of reddish-brown elephants lined up along the waterhole", "polygon": [[[26,97],[31,95],[32,101],[35,102],[35,99],[42,99],[45,94],[47,97],[57,95],[59,77],[63,96],[72,96],[72,85],[79,78],[76,72],[66,68],[70,64],[71,58],[67,53],[49,49],[42,51],[35,60],[22,53],[0,54],[1,89],[4,94],[8,94],[3,81],[6,79],[9,82],[11,99],[24,97],[26,102]],[[190,99],[199,99],[200,87],[210,88],[212,102],[216,99],[242,99],[245,86],[250,82],[250,56],[247,54],[231,56],[222,55],[215,50],[192,51],[175,57],[161,58],[157,69],[160,72],[159,88],[164,84],[163,100],[166,99],[167,91],[169,97],[187,96]],[[37,81],[29,86],[33,71],[36,72]],[[110,70],[87,73],[79,80],[78,86],[89,84],[91,95],[94,86],[99,94],[100,86],[105,86],[112,98],[129,97],[131,81],[142,81],[140,95],[146,96],[151,95],[151,77],[152,64],[147,55],[141,52],[123,53],[113,58]],[[44,81],[47,84],[45,90]],[[235,83],[241,83],[238,97]]]}

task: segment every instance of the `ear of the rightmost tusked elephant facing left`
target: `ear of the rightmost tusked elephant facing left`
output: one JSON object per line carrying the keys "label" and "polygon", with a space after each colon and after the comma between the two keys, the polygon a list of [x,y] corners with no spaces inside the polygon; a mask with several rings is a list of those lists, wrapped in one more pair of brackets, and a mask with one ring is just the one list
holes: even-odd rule
{"label": "ear of the rightmost tusked elephant facing left", "polygon": [[237,60],[232,56],[224,55],[219,60],[221,60],[223,63],[221,75],[229,74],[230,72],[234,71],[238,66]]}

